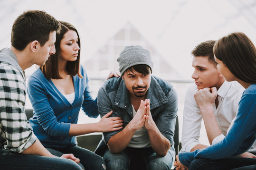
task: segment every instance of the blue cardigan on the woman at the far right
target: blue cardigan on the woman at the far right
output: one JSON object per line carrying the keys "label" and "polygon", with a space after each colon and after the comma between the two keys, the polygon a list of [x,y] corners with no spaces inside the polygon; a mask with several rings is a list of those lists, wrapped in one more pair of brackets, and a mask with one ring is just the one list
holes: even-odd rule
{"label": "blue cardigan on the woman at the far right", "polygon": [[256,85],[250,85],[239,102],[237,118],[227,136],[217,144],[194,152],[180,153],[180,162],[189,167],[197,158],[221,159],[246,152],[256,140]]}

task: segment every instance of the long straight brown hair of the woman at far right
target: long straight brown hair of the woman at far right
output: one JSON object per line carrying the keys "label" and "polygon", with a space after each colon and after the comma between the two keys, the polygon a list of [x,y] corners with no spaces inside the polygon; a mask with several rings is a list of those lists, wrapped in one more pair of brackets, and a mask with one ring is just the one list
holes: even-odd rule
{"label": "long straight brown hair of the woman at far right", "polygon": [[237,32],[220,38],[213,53],[238,79],[256,84],[256,48],[246,34]]}

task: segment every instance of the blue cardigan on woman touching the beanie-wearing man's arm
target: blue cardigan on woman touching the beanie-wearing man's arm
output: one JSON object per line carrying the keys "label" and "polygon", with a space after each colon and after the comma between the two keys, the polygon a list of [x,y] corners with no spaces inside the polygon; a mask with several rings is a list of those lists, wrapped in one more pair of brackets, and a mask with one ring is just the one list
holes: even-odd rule
{"label": "blue cardigan on woman touching the beanie-wearing man's arm", "polygon": [[88,76],[80,66],[83,78],[73,76],[75,100],[70,104],[51,79],[38,69],[28,79],[28,97],[34,109],[29,119],[33,131],[45,147],[65,148],[77,144],[76,136],[68,136],[71,123],[77,123],[82,107],[85,114],[96,118],[99,113],[88,85]]}

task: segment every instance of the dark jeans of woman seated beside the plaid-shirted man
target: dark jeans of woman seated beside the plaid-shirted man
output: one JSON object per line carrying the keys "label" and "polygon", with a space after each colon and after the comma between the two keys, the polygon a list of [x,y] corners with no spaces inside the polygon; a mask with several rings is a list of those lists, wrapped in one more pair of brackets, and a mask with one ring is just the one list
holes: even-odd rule
{"label": "dark jeans of woman seated beside the plaid-shirted man", "polygon": [[[61,156],[63,153],[73,153],[80,159],[79,165],[85,170],[105,170],[104,160],[97,154],[79,146],[70,146],[67,148],[46,148],[50,153]],[[82,165],[81,165],[82,164]]]}

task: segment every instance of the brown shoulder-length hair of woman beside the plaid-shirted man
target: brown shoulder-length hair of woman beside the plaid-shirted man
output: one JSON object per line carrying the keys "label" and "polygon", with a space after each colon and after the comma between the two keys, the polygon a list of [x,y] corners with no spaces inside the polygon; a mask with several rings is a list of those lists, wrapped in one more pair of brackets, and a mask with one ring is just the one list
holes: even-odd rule
{"label": "brown shoulder-length hair of woman beside the plaid-shirted man", "polygon": [[[56,34],[56,42],[55,42],[55,49],[56,52],[55,54],[51,55],[49,59],[46,61],[45,65],[40,66],[40,70],[44,73],[44,75],[49,79],[62,79],[59,75],[58,71],[58,63],[59,63],[59,58],[60,58],[60,41],[63,39],[64,34],[66,34],[67,31],[73,30],[76,31],[76,34],[78,36],[78,46],[80,47],[80,37],[79,34],[74,26],[71,24],[60,21],[60,31]],[[71,76],[76,76],[78,75],[79,77],[83,77],[79,71],[79,66],[80,66],[80,49],[78,51],[78,56],[76,61],[67,61],[66,64],[66,71],[68,75]]]}

